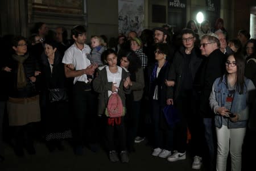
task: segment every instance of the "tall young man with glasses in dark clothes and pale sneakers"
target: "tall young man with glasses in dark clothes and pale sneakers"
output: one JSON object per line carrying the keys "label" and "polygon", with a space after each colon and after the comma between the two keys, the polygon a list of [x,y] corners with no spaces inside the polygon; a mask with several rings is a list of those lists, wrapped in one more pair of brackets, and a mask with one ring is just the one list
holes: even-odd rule
{"label": "tall young man with glasses in dark clothes and pale sneakers", "polygon": [[[186,159],[187,149],[187,126],[191,132],[192,155],[194,161],[192,169],[201,168],[201,156],[203,146],[203,119],[201,119],[197,111],[198,97],[194,89],[194,78],[203,58],[201,57],[200,49],[195,47],[195,32],[189,28],[184,28],[181,31],[182,43],[179,50],[175,53],[174,62],[168,75],[166,85],[171,89],[172,99],[167,99],[170,104],[173,103],[179,111],[180,122],[175,126],[175,141],[177,146],[176,152],[168,157],[168,161],[173,162],[177,160]],[[171,81],[175,82],[175,89],[170,86]]]}

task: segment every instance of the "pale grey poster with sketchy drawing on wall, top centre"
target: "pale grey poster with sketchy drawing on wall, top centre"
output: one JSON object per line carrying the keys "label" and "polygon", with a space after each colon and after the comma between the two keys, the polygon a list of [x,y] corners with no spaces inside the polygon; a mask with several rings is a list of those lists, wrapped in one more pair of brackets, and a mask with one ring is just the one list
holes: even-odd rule
{"label": "pale grey poster with sketchy drawing on wall, top centre", "polygon": [[144,23],[144,0],[119,0],[118,1],[118,31],[127,35],[136,31],[141,35]]}

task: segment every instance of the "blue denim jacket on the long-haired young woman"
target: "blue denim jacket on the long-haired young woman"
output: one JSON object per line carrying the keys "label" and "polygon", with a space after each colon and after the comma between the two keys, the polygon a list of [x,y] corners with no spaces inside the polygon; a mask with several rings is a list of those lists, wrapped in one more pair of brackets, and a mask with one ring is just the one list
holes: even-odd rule
{"label": "blue denim jacket on the long-haired young woman", "polygon": [[[212,93],[210,93],[209,101],[210,107],[214,111],[215,115],[215,126],[222,127],[223,116],[217,113],[218,107],[225,106],[226,97],[228,96],[228,86],[226,85],[225,75],[221,78],[217,78],[212,86]],[[228,121],[228,128],[243,128],[246,127],[247,120],[249,118],[249,92],[254,90],[255,86],[250,79],[245,78],[245,86],[243,88],[243,94],[239,94],[235,91],[233,102],[230,111],[238,115],[237,122]]]}

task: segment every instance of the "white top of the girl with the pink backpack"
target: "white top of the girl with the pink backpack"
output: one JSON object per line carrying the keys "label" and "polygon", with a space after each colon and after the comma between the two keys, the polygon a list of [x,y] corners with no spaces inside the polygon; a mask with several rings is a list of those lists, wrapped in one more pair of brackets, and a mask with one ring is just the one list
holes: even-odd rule
{"label": "white top of the girl with the pink backpack", "polygon": [[[112,73],[109,70],[109,66],[106,66],[106,72],[107,72],[107,76],[108,76],[108,82],[113,82],[116,83],[114,86],[119,87],[120,82],[122,80],[122,68],[120,66],[117,66],[117,72],[116,73]],[[115,89],[115,91],[118,91],[118,89]],[[110,95],[112,94],[112,91],[108,91],[108,95],[110,97]]]}

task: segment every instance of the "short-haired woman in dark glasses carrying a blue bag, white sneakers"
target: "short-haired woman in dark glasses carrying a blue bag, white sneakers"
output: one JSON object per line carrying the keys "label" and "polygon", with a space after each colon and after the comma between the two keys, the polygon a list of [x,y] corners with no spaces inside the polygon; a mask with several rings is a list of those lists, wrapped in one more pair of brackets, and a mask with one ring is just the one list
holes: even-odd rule
{"label": "short-haired woman in dark glasses carrying a blue bag, white sneakers", "polygon": [[153,127],[153,147],[152,156],[166,158],[171,155],[172,131],[168,127],[162,109],[167,105],[167,80],[170,64],[166,60],[168,56],[167,44],[156,44],[155,64],[149,68],[149,100],[151,107],[151,122]]}

